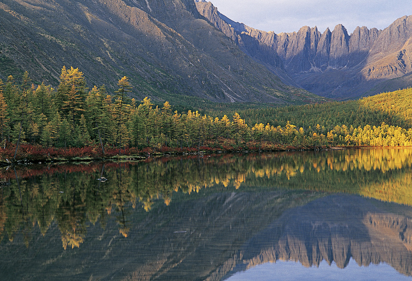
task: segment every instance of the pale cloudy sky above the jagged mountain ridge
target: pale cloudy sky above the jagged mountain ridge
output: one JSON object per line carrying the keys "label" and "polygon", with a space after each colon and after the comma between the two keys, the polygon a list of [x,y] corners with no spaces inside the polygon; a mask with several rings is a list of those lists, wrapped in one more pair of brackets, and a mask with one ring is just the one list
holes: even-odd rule
{"label": "pale cloudy sky above the jagged mountain ridge", "polygon": [[351,34],[357,26],[385,29],[412,15],[412,0],[207,0],[229,19],[264,31],[299,31],[318,27],[323,33],[342,24]]}

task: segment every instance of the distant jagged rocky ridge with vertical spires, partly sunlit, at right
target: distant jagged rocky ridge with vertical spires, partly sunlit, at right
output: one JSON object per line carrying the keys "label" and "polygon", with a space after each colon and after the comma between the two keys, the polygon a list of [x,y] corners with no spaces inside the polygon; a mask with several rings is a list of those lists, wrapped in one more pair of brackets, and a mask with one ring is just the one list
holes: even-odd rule
{"label": "distant jagged rocky ridge with vertical spires, partly sunlit, at right", "polygon": [[[349,99],[410,85],[410,16],[397,19],[384,30],[358,27],[351,35],[342,25],[323,33],[305,26],[298,32],[275,34],[235,23],[212,3],[199,2],[196,6],[245,53],[268,65],[283,81],[317,95]],[[393,85],[383,83],[405,75],[409,78]]]}

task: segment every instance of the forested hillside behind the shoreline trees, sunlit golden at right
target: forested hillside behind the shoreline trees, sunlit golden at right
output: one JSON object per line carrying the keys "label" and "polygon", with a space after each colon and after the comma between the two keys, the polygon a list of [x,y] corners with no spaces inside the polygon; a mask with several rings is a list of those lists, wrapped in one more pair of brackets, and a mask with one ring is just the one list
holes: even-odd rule
{"label": "forested hillside behind the shoreline trees, sunlit golden at right", "polygon": [[[245,109],[238,113],[249,125],[269,123],[273,126],[284,126],[287,121],[290,121],[298,128],[307,129],[309,126],[314,128],[319,124],[329,131],[337,125],[352,125],[356,128],[366,125],[379,126],[384,122],[388,125],[410,128],[412,127],[411,102],[412,88],[407,88],[357,101]],[[224,113],[229,116],[232,112],[230,109],[229,111],[220,109],[214,114]]]}

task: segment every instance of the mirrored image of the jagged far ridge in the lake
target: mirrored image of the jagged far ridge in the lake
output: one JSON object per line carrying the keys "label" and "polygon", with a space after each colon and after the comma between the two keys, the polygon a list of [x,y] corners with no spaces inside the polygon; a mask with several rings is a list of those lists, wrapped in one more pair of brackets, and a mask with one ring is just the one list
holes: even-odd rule
{"label": "mirrored image of the jagged far ridge in the lake", "polygon": [[319,267],[325,260],[345,268],[353,258],[359,266],[385,262],[410,275],[411,238],[408,215],[387,212],[385,205],[357,196],[328,196],[285,211],[252,237],[237,270],[279,259],[305,267]]}

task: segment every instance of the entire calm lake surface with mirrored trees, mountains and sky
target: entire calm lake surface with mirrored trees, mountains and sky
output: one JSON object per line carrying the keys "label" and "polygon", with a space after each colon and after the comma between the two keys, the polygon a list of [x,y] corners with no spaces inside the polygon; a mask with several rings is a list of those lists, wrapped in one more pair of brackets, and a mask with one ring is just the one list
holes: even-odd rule
{"label": "entire calm lake surface with mirrored trees, mountains and sky", "polygon": [[412,149],[38,164],[0,180],[0,280],[412,280]]}

